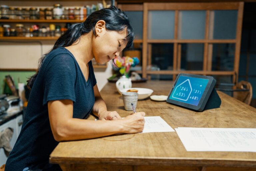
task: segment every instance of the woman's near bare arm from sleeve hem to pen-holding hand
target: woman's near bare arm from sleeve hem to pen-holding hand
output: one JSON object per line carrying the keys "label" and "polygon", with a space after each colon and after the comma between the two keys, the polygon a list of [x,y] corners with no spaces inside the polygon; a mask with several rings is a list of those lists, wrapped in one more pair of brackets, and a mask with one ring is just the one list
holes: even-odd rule
{"label": "woman's near bare arm from sleeve hem to pen-holding hand", "polygon": [[144,128],[144,112],[112,121],[73,118],[73,101],[71,100],[49,101],[48,113],[56,141],[89,139],[116,133],[137,133]]}

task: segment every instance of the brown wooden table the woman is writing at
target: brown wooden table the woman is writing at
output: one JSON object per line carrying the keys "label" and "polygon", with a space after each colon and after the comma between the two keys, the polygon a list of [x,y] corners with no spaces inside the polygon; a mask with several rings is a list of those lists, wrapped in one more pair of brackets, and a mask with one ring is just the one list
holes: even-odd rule
{"label": "brown wooden table the woman is writing at", "polygon": [[[168,95],[173,82],[148,81],[133,87],[153,89],[152,95]],[[137,111],[161,116],[172,128],[256,128],[256,109],[222,92],[220,108],[195,112],[166,102],[138,101]],[[125,111],[115,83],[101,91],[108,110],[121,117]],[[90,116],[88,119],[94,119]],[[256,144],[255,144],[256,145]],[[61,142],[50,155],[63,171],[167,171],[167,170],[256,170],[256,153],[188,152],[176,132],[115,135],[82,141]]]}

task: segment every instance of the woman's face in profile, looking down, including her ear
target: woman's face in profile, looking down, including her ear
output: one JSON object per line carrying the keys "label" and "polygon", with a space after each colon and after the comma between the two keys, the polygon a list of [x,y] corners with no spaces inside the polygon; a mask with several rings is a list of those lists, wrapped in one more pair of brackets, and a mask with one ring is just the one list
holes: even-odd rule
{"label": "woman's face in profile, looking down, including her ear", "polygon": [[116,56],[126,47],[125,37],[127,30],[108,31],[105,21],[100,20],[95,26],[96,37],[92,40],[92,52],[97,63],[105,64]]}

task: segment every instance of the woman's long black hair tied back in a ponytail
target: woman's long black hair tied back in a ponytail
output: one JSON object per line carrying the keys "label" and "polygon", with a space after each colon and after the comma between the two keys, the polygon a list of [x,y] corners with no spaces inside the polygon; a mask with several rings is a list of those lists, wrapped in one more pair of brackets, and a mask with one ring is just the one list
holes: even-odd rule
{"label": "woman's long black hair tied back in a ponytail", "polygon": [[[127,29],[127,36],[125,38],[127,42],[126,48],[132,47],[134,34],[133,28],[130,25],[127,15],[115,6],[110,6],[109,8],[103,8],[101,10],[93,12],[87,17],[87,19],[83,23],[77,23],[72,25],[64,34],[62,34],[58,38],[53,48],[48,53],[50,53],[54,49],[57,49],[58,47],[67,47],[72,45],[81,37],[81,35],[83,35],[84,33],[89,33],[91,30],[93,31],[94,36],[96,36],[95,25],[99,20],[105,21],[106,30],[123,31],[124,29]],[[39,59],[38,70],[36,74],[31,76],[29,80],[27,80],[27,87],[29,89],[32,88],[39,69],[48,53],[44,54]]]}

